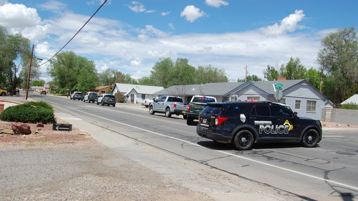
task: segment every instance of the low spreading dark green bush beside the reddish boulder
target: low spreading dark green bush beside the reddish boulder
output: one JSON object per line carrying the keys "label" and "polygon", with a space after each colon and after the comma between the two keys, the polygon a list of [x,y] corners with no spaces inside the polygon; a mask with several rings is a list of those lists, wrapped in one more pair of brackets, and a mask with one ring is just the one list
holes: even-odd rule
{"label": "low spreading dark green bush beside the reddish boulder", "polygon": [[54,116],[52,109],[33,107],[26,103],[4,109],[3,113],[0,114],[0,119],[8,122],[48,124],[53,122]]}

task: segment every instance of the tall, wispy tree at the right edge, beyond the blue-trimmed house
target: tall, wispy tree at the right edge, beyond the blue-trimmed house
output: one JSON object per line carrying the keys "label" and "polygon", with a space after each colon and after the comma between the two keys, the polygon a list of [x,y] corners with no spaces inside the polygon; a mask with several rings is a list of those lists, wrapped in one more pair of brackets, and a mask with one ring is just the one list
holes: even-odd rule
{"label": "tall, wispy tree at the right edge, beyond the blue-trimmed house", "polygon": [[329,80],[334,82],[334,90],[327,88],[331,84],[324,80],[323,94],[335,103],[341,103],[348,89],[358,79],[358,40],[354,26],[328,33],[321,40],[322,49],[316,62]]}

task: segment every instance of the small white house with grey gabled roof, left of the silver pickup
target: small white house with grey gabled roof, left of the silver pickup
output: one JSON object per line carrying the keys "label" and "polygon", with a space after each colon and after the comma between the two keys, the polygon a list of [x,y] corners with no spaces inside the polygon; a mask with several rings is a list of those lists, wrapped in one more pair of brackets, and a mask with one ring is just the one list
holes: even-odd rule
{"label": "small white house with grey gabled roof, left of the silver pickup", "polygon": [[124,97],[126,97],[127,103],[140,103],[141,100],[151,100],[153,98],[153,93],[163,89],[164,87],[116,83],[112,93],[115,94],[121,92]]}

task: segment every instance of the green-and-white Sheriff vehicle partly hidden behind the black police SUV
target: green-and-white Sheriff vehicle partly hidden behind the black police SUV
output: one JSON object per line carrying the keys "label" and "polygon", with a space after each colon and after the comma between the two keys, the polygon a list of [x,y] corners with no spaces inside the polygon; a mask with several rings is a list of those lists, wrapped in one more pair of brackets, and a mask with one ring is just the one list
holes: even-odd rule
{"label": "green-and-white Sheriff vehicle partly hidden behind the black police SUV", "polygon": [[216,102],[216,98],[205,95],[194,95],[188,103],[187,124],[191,125],[194,119],[199,119],[199,113],[203,111],[207,103]]}

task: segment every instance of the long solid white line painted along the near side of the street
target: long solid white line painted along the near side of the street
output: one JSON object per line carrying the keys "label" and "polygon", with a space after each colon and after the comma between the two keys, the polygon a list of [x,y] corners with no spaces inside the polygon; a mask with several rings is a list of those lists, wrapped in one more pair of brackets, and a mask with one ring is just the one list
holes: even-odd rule
{"label": "long solid white line painted along the near side of the street", "polygon": [[[46,100],[46,101],[47,101],[47,100]],[[50,102],[50,101],[47,101],[47,102]],[[50,103],[53,103],[53,102],[50,102]],[[58,103],[53,103],[53,104],[57,104],[57,105],[59,105],[59,106],[63,106],[63,105],[60,105],[60,104],[58,104]],[[67,107],[67,106],[63,106],[63,107]],[[148,131],[148,130],[143,129],[143,128],[138,128],[138,127],[135,127],[135,126],[131,126],[131,125],[129,125],[129,124],[125,124],[125,123],[113,121],[112,119],[107,119],[107,118],[99,117],[99,116],[96,116],[96,115],[94,115],[94,114],[90,114],[90,113],[87,113],[87,112],[79,111],[78,109],[74,109],[74,108],[70,108],[70,107],[67,107],[67,108],[73,109],[73,110],[76,110],[76,111],[78,111],[78,112],[82,112],[82,113],[85,113],[85,114],[88,114],[88,115],[91,115],[91,116],[95,116],[95,117],[98,117],[98,118],[102,118],[102,119],[105,119],[105,120],[108,120],[108,121],[111,121],[111,122],[119,123],[119,124],[122,124],[122,125],[124,125],[124,126],[129,126],[129,127],[136,128],[136,129],[139,129],[139,130],[142,130],[142,131],[146,131],[146,132],[149,132],[149,133],[153,133],[153,134],[156,134],[156,135],[159,135],[159,136],[163,136],[163,137],[175,139],[175,140],[178,140],[178,141],[182,141],[182,142],[185,142],[185,143],[194,145],[194,146],[203,147],[203,146],[200,146],[199,144],[195,144],[195,143],[192,143],[192,142],[188,142],[188,141],[185,141],[185,140],[183,140],[183,139],[178,139],[178,138],[175,138],[175,137],[166,136],[166,135],[164,135],[164,134],[156,133],[156,132],[153,132],[153,131]],[[203,147],[203,148],[206,148],[206,147]],[[206,148],[206,149],[207,149],[207,148]],[[340,186],[345,186],[345,187],[348,187],[348,188],[352,188],[352,189],[354,189],[354,190],[358,190],[358,187],[350,186],[350,185],[347,185],[347,184],[344,184],[344,183],[340,183],[340,182],[337,182],[337,181],[328,180],[328,179],[325,179],[325,178],[321,178],[321,177],[309,175],[309,174],[306,174],[306,173],[303,173],[303,172],[291,170],[291,169],[284,168],[284,167],[280,167],[280,166],[276,166],[276,165],[271,165],[271,164],[269,164],[269,163],[265,163],[265,162],[253,160],[253,159],[251,159],[251,158],[246,158],[246,157],[243,157],[243,156],[239,156],[239,155],[236,155],[236,154],[233,154],[233,153],[224,152],[224,151],[221,151],[221,150],[215,150],[215,149],[210,149],[210,150],[216,151],[216,152],[220,152],[220,153],[224,153],[224,154],[227,154],[227,155],[230,155],[230,156],[234,156],[234,157],[237,157],[237,158],[245,159],[245,160],[248,160],[248,161],[260,163],[260,164],[262,164],[262,165],[267,165],[267,166],[275,167],[275,168],[278,168],[278,169],[281,169],[281,170],[285,170],[285,171],[297,173],[297,174],[299,174],[299,175],[304,175],[304,176],[311,177],[311,178],[315,178],[315,179],[318,179],[318,180],[322,180],[322,181],[334,183],[334,184],[337,184],[337,185],[340,185]]]}

